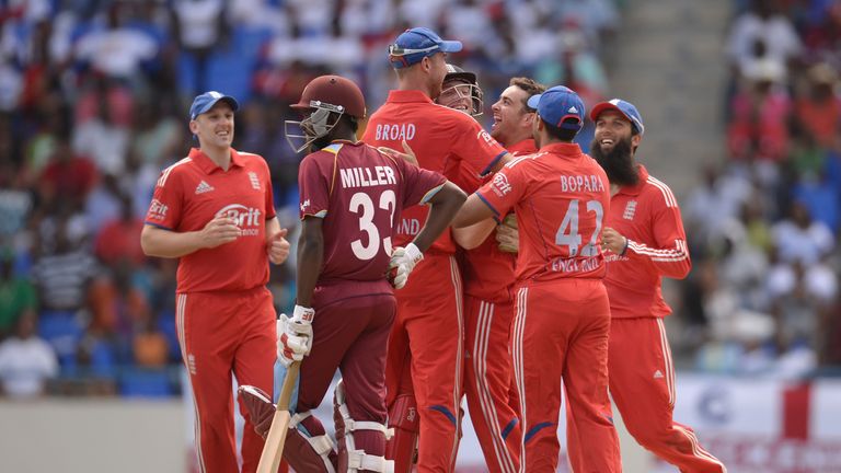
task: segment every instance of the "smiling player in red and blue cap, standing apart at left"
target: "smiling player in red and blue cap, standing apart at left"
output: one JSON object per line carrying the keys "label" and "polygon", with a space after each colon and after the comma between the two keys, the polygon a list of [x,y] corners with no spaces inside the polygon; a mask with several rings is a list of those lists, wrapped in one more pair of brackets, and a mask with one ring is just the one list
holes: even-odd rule
{"label": "smiling player in red and blue cap, standing apart at left", "polygon": [[[240,384],[272,391],[276,314],[265,285],[268,262],[289,254],[265,160],[231,148],[237,108],[219,92],[193,101],[189,130],[199,147],[161,173],[141,234],[147,255],[181,258],[175,322],[201,472],[239,471],[231,372]],[[246,428],[243,472],[256,470],[262,450]]]}

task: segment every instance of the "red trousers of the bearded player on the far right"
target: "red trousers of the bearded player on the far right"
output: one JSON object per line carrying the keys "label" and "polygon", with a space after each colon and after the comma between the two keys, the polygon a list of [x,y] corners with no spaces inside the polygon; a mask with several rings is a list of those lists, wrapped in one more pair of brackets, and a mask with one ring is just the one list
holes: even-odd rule
{"label": "red trousers of the bearded player on the far right", "polygon": [[[718,459],[701,447],[691,428],[672,419],[675,367],[663,319],[615,318],[610,327],[610,394],[627,431],[641,446],[686,473],[724,473]],[[574,471],[587,449],[567,429]]]}

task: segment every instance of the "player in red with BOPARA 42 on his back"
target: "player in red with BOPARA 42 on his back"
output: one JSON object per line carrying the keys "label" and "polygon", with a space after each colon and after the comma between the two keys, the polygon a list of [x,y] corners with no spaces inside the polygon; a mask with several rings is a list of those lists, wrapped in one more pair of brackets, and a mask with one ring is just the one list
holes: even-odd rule
{"label": "player in red with BOPARA 42 on his back", "polygon": [[[576,471],[619,472],[619,439],[608,399],[610,308],[602,284],[602,218],[610,206],[604,171],[572,140],[584,103],[558,85],[529,99],[540,151],[515,158],[473,194],[453,227],[499,221],[515,210],[521,244],[511,355],[520,419],[521,472],[554,472],[561,381],[587,450]],[[493,221],[491,221],[493,223]]]}

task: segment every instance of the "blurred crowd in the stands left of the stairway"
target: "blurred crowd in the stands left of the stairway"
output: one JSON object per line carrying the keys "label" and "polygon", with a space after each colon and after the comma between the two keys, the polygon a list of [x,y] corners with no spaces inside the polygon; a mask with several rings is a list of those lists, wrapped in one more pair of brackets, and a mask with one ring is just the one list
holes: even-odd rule
{"label": "blurred crowd in the stands left of the stairway", "polygon": [[[372,111],[395,83],[388,43],[428,25],[464,43],[453,61],[479,73],[487,97],[531,76],[595,103],[609,93],[603,55],[622,3],[3,2],[0,394],[180,390],[176,262],[145,257],[139,234],[160,171],[195,143],[187,109],[197,93],[240,100],[234,148],[267,160],[281,224],[295,228],[300,157],[283,123],[297,118],[288,104],[310,79],[354,79]],[[293,262],[272,268],[278,310],[291,305],[292,274]]]}

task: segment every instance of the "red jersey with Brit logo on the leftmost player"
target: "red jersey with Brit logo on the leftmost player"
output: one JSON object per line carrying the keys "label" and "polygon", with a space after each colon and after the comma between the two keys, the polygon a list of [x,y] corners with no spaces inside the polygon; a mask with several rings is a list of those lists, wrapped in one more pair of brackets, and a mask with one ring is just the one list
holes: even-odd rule
{"label": "red jersey with Brit logo on the leftmost player", "polygon": [[176,232],[197,231],[216,216],[237,220],[242,236],[198,250],[178,262],[177,291],[240,291],[268,281],[266,220],[275,217],[266,161],[231,149],[223,171],[199,149],[158,178],[146,223]]}

